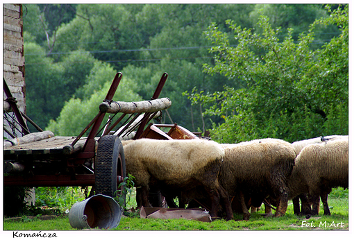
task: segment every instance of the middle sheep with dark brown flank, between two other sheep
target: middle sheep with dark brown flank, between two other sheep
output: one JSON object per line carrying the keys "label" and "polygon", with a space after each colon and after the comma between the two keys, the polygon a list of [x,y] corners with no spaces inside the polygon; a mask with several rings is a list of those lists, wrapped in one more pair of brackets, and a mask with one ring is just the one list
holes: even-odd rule
{"label": "middle sheep with dark brown flank, between two other sheep", "polygon": [[[244,219],[249,218],[246,199],[260,205],[267,196],[276,200],[276,214],[287,210],[289,189],[296,153],[291,144],[280,139],[257,139],[240,144],[224,144],[225,157],[219,179],[232,196],[240,196]],[[240,195],[239,195],[240,194]]]}

